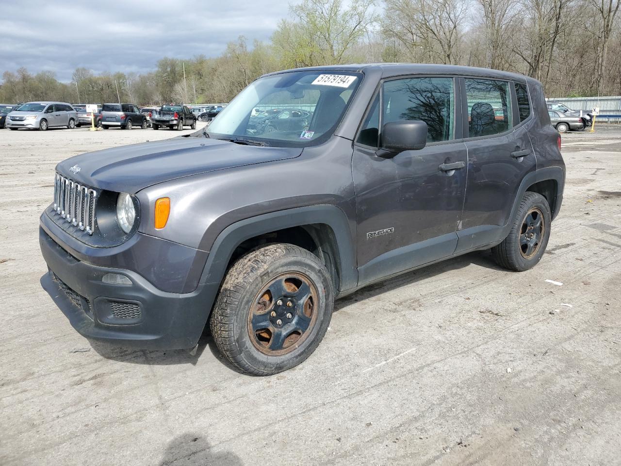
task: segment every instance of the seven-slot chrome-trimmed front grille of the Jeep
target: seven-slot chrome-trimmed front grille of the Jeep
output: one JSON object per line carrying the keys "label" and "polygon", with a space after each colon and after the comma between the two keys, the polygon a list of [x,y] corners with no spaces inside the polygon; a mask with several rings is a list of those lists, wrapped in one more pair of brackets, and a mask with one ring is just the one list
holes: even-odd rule
{"label": "seven-slot chrome-trimmed front grille of the Jeep", "polygon": [[95,231],[97,191],[90,186],[56,174],[54,180],[54,210],[65,221],[92,235]]}

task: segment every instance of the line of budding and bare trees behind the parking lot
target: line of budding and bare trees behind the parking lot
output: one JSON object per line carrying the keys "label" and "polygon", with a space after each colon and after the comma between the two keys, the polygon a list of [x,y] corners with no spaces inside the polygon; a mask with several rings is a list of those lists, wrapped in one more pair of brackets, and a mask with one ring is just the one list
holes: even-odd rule
{"label": "line of budding and bare trees behind the parking lot", "polygon": [[228,102],[270,71],[363,62],[515,71],[548,96],[621,95],[621,0],[304,0],[270,40],[240,36],[215,58],[165,57],[150,73],[4,71],[0,102]]}

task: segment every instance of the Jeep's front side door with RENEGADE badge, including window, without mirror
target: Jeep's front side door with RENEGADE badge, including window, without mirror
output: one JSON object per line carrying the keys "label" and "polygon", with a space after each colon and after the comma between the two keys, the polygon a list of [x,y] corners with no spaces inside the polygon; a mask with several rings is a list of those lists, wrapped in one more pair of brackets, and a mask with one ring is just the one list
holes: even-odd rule
{"label": "Jeep's front side door with RENEGADE badge, including window, without mirror", "polygon": [[[359,285],[455,251],[466,189],[459,93],[448,77],[384,81],[356,139],[352,161],[358,216]],[[381,158],[381,125],[427,123],[427,147]]]}

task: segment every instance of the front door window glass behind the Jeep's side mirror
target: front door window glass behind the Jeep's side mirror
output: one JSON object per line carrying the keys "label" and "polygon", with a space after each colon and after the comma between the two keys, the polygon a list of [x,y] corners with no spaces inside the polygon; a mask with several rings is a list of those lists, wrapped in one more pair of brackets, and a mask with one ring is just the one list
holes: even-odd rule
{"label": "front door window glass behind the Jeep's side mirror", "polygon": [[453,139],[453,78],[408,78],[384,83],[382,124],[397,120],[427,123],[427,141]]}

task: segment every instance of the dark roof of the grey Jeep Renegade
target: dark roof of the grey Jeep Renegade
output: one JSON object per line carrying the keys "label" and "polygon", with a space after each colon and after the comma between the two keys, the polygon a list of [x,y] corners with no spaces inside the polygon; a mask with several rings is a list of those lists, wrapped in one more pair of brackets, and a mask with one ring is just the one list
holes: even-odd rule
{"label": "dark roof of the grey Jeep Renegade", "polygon": [[431,63],[352,63],[349,65],[312,66],[309,68],[295,68],[293,70],[276,71],[278,74],[287,71],[350,71],[366,73],[379,70],[384,78],[399,75],[438,74],[438,75],[473,75],[488,76],[490,78],[505,78],[524,81],[526,76],[509,71],[492,70],[491,68],[476,68],[475,66],[435,65]]}

